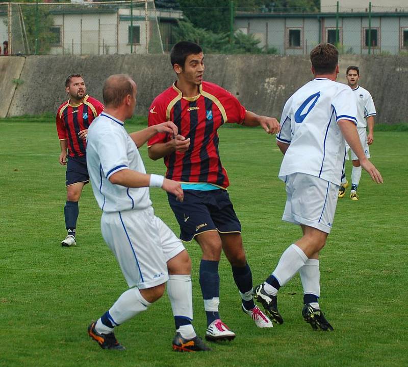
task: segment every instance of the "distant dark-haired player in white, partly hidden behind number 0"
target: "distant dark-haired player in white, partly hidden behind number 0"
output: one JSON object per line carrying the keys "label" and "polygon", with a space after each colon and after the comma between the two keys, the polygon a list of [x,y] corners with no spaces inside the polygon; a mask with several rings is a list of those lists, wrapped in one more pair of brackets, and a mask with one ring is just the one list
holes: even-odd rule
{"label": "distant dark-haired player in white, partly hidden behind number 0", "polygon": [[[376,115],[373,98],[367,89],[359,85],[360,69],[358,66],[349,66],[346,71],[347,84],[352,89],[355,101],[357,103],[357,131],[359,132],[360,142],[363,146],[364,153],[367,158],[370,158],[370,150],[368,148],[374,141],[374,116]],[[368,135],[367,135],[368,126]],[[348,151],[350,146],[346,144],[346,159],[348,159]],[[351,200],[359,200],[357,188],[359,187],[361,178],[361,165],[358,156],[351,150],[351,160],[353,168],[351,171]],[[343,174],[341,177],[341,186],[339,197],[344,197],[348,188],[346,179],[346,167],[343,166]]]}

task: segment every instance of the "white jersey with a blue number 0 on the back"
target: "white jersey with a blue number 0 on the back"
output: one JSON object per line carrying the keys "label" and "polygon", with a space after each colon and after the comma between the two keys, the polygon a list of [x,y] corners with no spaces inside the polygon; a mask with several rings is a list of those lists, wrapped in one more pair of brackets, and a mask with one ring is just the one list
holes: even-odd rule
{"label": "white jersey with a blue number 0 on the back", "polygon": [[337,122],[356,124],[357,108],[347,85],[316,78],[299,88],[286,102],[276,139],[290,144],[279,178],[306,173],[340,185],[345,141]]}

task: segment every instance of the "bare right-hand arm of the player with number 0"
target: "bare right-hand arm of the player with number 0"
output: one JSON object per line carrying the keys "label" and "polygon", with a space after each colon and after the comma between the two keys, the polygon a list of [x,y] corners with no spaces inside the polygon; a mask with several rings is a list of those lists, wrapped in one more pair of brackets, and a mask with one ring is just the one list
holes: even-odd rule
{"label": "bare right-hand arm of the player with number 0", "polygon": [[377,183],[382,183],[382,177],[375,166],[367,159],[363,147],[360,143],[359,133],[354,123],[350,120],[339,120],[338,125],[344,136],[344,139],[359,158],[361,166],[369,173],[372,180]]}

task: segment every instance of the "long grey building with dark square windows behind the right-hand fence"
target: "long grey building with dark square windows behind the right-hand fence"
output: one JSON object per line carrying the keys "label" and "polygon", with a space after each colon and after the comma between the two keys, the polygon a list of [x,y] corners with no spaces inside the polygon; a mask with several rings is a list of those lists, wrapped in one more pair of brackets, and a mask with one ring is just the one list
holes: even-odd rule
{"label": "long grey building with dark square windows behind the right-hand fence", "polygon": [[281,55],[308,55],[320,42],[336,44],[343,54],[408,54],[406,8],[334,8],[319,13],[278,13],[276,9],[237,12],[235,26],[260,45]]}

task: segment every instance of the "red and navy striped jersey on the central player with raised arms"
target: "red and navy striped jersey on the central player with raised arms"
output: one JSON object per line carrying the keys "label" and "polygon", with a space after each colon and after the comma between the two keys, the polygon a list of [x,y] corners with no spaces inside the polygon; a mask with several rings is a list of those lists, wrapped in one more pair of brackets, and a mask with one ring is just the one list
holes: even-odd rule
{"label": "red and navy striped jersey on the central player with raised arms", "polygon": [[[190,138],[187,152],[173,152],[164,157],[166,177],[180,182],[208,182],[221,188],[230,185],[218,152],[217,129],[224,123],[241,124],[245,108],[222,87],[202,82],[199,94],[183,97],[175,83],[163,91],[150,106],[148,125],[173,121],[179,134]],[[166,143],[172,136],[160,133],[147,146]]]}

